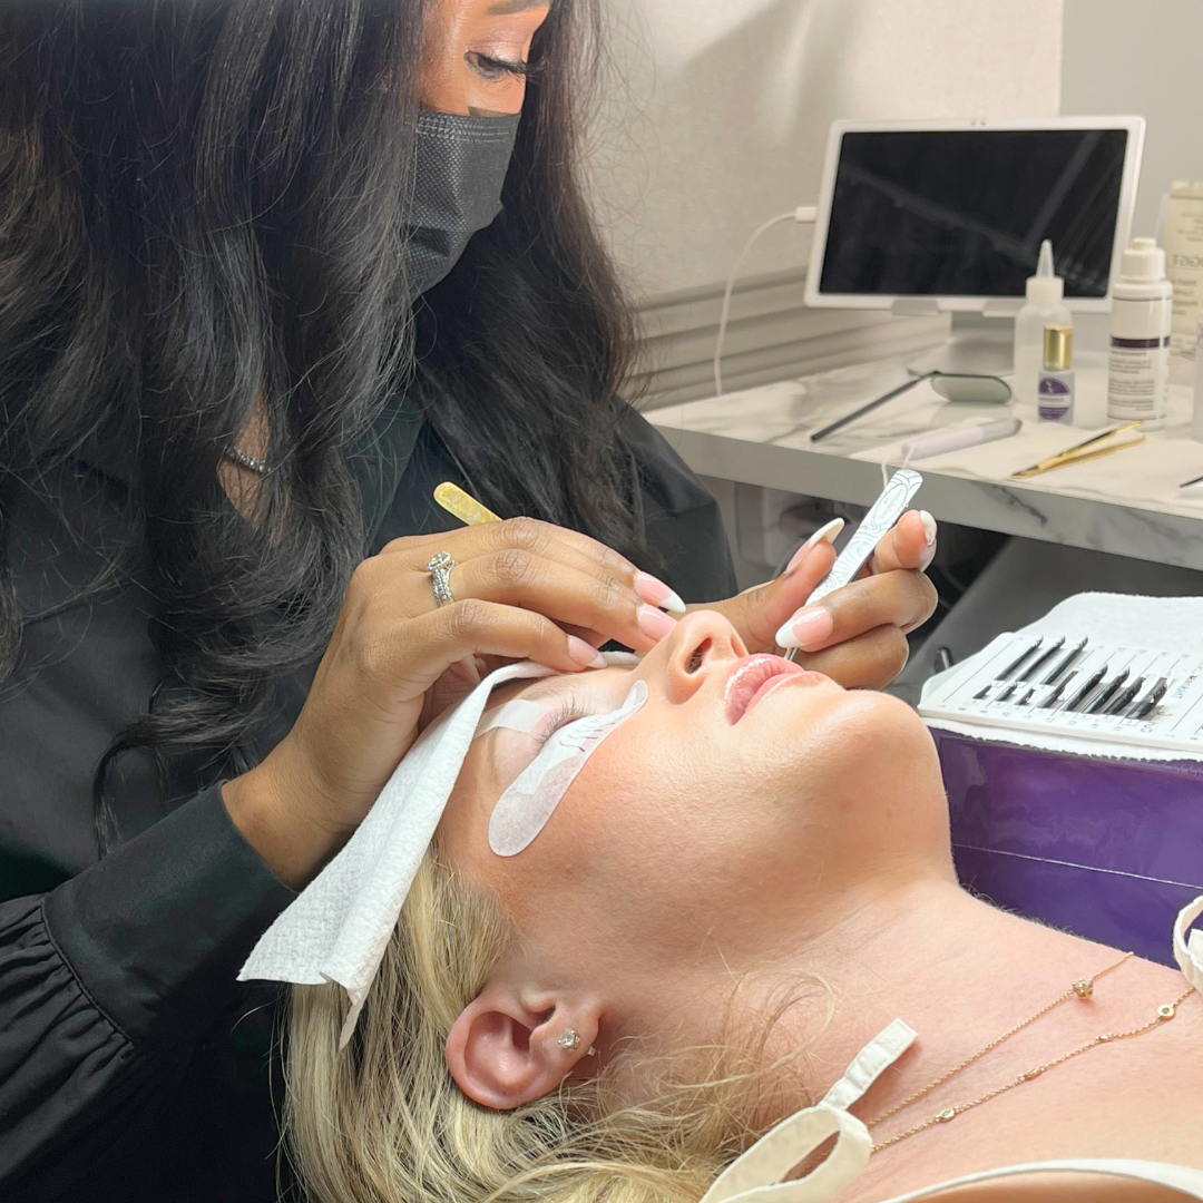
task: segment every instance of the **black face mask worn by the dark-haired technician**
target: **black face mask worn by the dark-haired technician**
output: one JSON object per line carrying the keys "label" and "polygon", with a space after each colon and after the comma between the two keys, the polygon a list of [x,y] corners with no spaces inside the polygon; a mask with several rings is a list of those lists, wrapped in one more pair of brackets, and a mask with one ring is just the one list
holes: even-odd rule
{"label": "black face mask worn by the dark-haired technician", "polygon": [[455,267],[468,239],[500,213],[521,115],[417,114],[405,248],[416,292],[434,288]]}

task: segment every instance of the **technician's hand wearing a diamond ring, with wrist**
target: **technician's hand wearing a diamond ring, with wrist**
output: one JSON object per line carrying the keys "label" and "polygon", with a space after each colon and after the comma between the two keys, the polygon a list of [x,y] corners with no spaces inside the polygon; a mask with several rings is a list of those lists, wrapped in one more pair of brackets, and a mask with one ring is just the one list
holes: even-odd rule
{"label": "technician's hand wearing a diamond ring, with wrist", "polygon": [[[456,561],[444,606],[426,567],[440,551]],[[657,606],[683,611],[617,552],[531,518],[397,539],[355,570],[296,725],[224,787],[226,810],[277,876],[300,885],[367,814],[435,683],[463,693],[517,659],[580,672],[609,639],[648,651],[675,626]]]}

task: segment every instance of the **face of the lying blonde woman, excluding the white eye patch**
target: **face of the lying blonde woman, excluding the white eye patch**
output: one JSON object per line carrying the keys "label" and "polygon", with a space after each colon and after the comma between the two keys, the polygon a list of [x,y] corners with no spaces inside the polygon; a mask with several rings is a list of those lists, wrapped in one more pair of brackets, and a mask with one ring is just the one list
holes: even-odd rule
{"label": "face of the lying blonde woman, excluding the white eye patch", "polygon": [[[494,854],[493,806],[539,737],[618,709],[638,680],[646,703],[546,826],[517,855]],[[521,938],[506,973],[549,983],[532,1013],[575,990],[606,1017],[598,1039],[606,1024],[621,1035],[671,1023],[711,977],[729,989],[729,973],[790,956],[882,875],[947,864],[938,764],[918,717],[748,657],[719,615],[688,616],[638,668],[520,682],[491,705],[515,697],[553,709],[546,729],[475,740],[440,846],[511,915]]]}

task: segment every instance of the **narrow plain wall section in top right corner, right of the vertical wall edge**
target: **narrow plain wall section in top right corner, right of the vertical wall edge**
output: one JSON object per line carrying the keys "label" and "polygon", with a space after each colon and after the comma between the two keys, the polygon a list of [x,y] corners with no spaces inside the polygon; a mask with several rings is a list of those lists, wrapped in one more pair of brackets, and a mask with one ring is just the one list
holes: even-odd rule
{"label": "narrow plain wall section in top right corner, right of the vertical wall edge", "polygon": [[1203,0],[1065,0],[1062,112],[1149,123],[1133,233],[1156,235],[1161,196],[1203,179]]}

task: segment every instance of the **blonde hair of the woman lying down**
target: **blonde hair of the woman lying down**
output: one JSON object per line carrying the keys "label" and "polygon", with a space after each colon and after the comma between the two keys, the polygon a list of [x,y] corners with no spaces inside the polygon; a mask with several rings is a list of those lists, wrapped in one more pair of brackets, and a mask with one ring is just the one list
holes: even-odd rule
{"label": "blonde hair of the woman lying down", "polygon": [[[765,1097],[748,1084],[796,1056],[765,1066],[768,1029],[742,1050],[621,1053],[516,1110],[468,1100],[446,1036],[514,938],[499,903],[432,851],[342,1054],[342,988],[294,988],[286,1136],[309,1201],[694,1203],[760,1134]],[[638,1103],[623,1100],[633,1069]]]}

